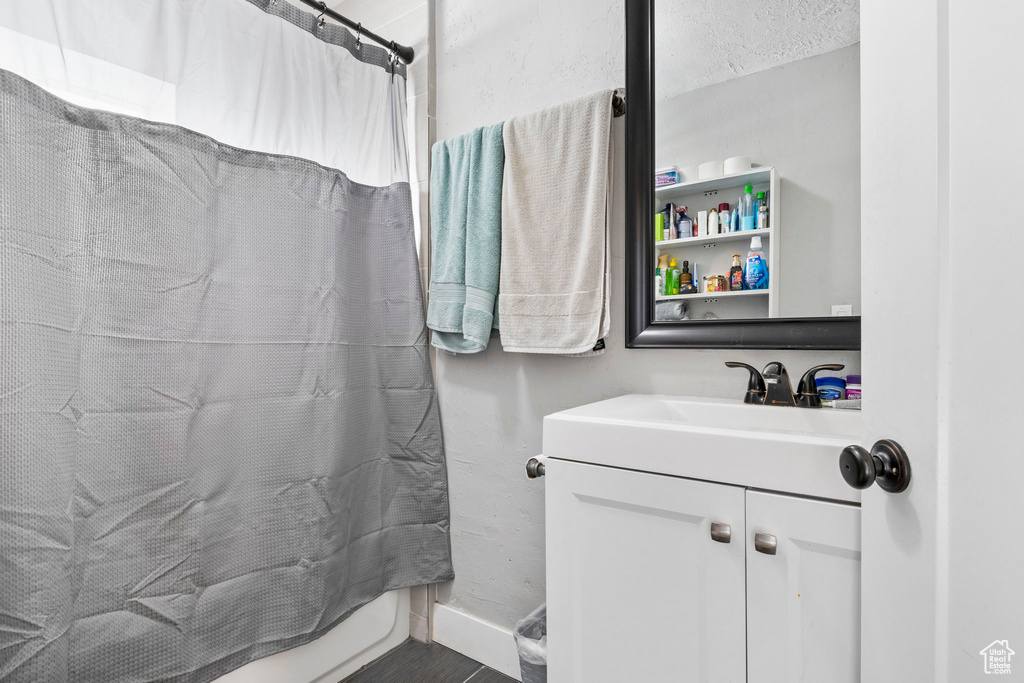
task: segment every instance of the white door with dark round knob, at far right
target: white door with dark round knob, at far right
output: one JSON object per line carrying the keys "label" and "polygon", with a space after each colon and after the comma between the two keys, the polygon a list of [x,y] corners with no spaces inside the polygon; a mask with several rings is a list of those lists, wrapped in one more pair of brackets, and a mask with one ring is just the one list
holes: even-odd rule
{"label": "white door with dark round knob, at far right", "polygon": [[865,682],[1024,653],[1022,26],[1022,2],[861,2],[862,444],[913,472],[862,498]]}

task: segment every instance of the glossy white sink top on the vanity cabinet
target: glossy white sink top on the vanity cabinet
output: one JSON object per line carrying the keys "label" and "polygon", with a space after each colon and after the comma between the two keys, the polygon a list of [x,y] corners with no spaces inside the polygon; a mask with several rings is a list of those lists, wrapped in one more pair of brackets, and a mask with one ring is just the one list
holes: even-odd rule
{"label": "glossy white sink top on the vanity cabinet", "polygon": [[860,413],[630,394],[544,419],[544,455],[851,502],[839,472]]}

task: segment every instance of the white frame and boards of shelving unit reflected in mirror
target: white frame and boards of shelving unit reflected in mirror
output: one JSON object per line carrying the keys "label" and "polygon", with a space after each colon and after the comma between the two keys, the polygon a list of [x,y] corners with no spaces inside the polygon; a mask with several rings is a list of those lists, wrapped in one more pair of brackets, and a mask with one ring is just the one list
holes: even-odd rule
{"label": "white frame and boards of shelving unit reflected in mirror", "polygon": [[[654,190],[656,208],[666,204],[689,207],[687,215],[696,221],[698,211],[718,208],[721,203],[728,203],[729,210],[736,208],[736,199],[742,195],[745,185],[754,185],[754,194],[768,193],[768,225],[761,230],[741,230],[723,232],[696,238],[681,238],[679,240],[663,240],[654,243],[655,265],[657,256],[669,254],[680,266],[683,261],[697,265],[699,287],[703,287],[706,275],[728,275],[732,265],[732,255],[739,254],[745,260],[750,249],[751,238],[760,237],[762,248],[768,257],[768,289],[743,290],[738,292],[698,292],[695,294],[677,294],[675,296],[658,296],[658,301],[694,300],[702,305],[701,311],[713,311],[719,317],[776,317],[779,310],[776,266],[779,262],[779,178],[772,166],[752,169],[742,173],[733,173],[707,180],[681,182],[675,185],[658,187]],[[653,237],[653,228],[651,228]],[[697,284],[696,282],[694,283]],[[651,284],[653,287],[653,283]]]}

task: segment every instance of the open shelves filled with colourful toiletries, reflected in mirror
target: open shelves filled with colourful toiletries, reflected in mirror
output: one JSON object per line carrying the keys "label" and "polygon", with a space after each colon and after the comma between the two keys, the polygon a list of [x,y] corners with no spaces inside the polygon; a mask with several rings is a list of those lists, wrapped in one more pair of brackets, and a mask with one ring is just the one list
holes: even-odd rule
{"label": "open shelves filled with colourful toiletries, reflected in mirror", "polygon": [[690,300],[689,316],[777,316],[778,186],[763,167],[656,188],[655,300]]}

